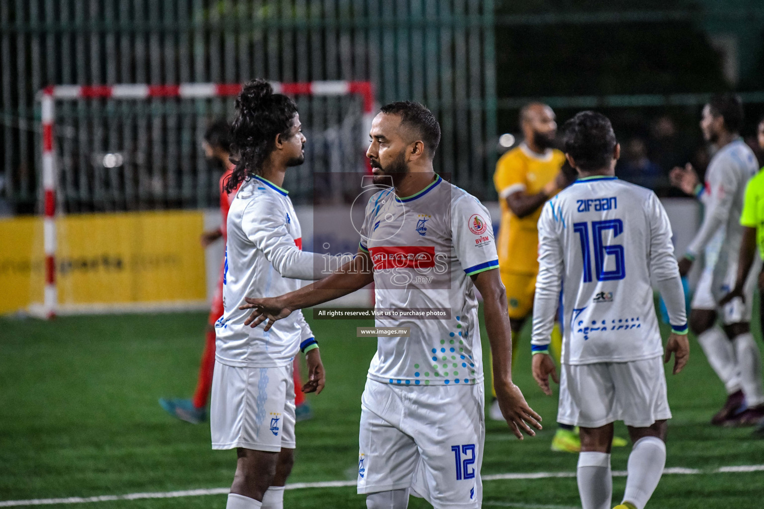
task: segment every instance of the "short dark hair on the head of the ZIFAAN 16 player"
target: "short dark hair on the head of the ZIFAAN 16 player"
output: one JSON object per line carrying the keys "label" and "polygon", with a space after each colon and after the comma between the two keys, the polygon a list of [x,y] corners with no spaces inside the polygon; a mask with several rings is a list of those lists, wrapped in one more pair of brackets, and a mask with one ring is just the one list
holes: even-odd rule
{"label": "short dark hair on the head of the ZIFAAN 16 player", "polygon": [[610,166],[615,150],[616,134],[610,120],[596,111],[581,111],[562,127],[565,153],[585,172]]}

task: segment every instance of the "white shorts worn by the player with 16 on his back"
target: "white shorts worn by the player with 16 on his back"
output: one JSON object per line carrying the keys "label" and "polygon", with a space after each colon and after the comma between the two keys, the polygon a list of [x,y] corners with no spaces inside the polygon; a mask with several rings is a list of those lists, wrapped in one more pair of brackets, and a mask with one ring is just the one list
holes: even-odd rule
{"label": "white shorts worn by the player with 16 on his back", "polygon": [[660,357],[632,362],[596,362],[560,369],[557,422],[601,427],[616,420],[649,427],[671,419]]}

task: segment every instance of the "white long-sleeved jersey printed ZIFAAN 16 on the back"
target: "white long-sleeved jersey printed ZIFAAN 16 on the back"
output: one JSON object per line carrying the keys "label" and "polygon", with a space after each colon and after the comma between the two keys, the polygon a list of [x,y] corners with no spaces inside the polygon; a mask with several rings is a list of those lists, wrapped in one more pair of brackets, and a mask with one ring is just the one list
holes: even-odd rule
{"label": "white long-sleeved jersey printed ZIFAAN 16 on the back", "polygon": [[655,193],[616,177],[578,179],[539,218],[533,350],[549,345],[562,288],[562,363],[662,354],[652,282],[672,328],[687,330],[669,217]]}

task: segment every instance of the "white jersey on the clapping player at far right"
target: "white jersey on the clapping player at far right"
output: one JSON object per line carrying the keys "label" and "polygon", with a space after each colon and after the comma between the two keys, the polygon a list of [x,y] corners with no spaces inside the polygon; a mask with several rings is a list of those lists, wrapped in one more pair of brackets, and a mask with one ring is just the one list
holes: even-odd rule
{"label": "white jersey on the clapping player at far right", "polygon": [[[756,175],[759,165],[753,150],[741,140],[727,143],[711,159],[706,170],[706,182],[698,198],[705,205],[703,224],[687,249],[691,257],[706,247],[706,266],[718,266],[720,277],[726,275],[727,265],[736,263],[743,227],[740,215],[746,184]],[[711,240],[717,237],[719,243]],[[712,247],[711,244],[717,244]]]}

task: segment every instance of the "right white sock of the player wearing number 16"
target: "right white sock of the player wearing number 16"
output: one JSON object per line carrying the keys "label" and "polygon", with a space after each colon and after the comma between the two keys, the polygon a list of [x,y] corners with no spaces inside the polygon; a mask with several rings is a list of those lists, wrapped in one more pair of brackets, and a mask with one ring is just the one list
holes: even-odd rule
{"label": "right white sock of the player wearing number 16", "polygon": [[[629,455],[628,477],[623,501],[636,509],[644,509],[666,464],[666,444],[658,437],[642,437],[636,441]],[[585,506],[584,506],[584,509]]]}

